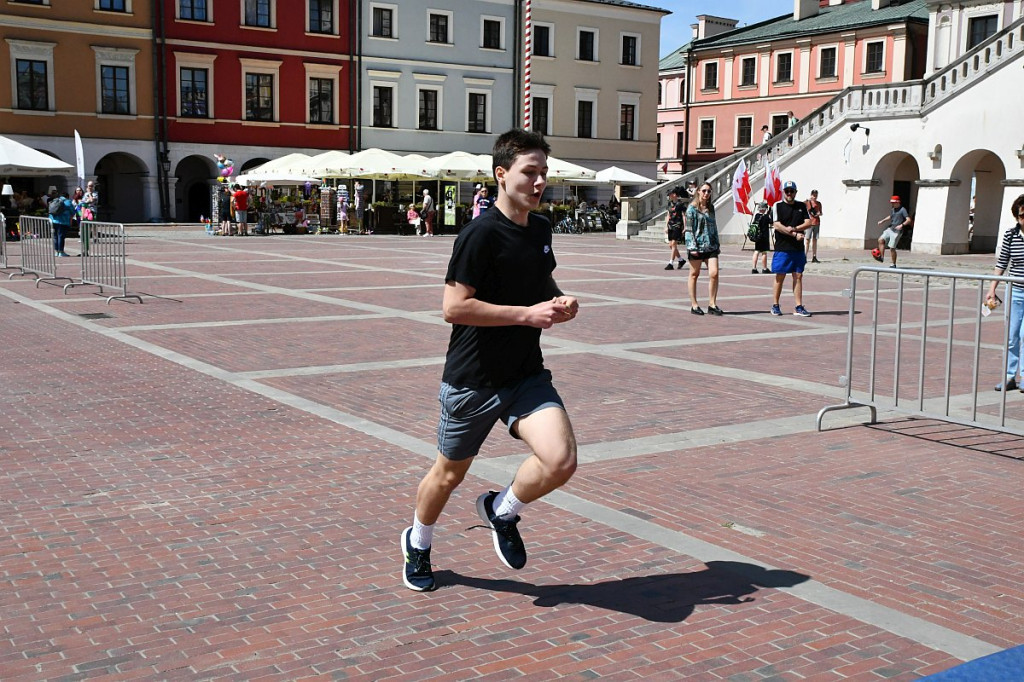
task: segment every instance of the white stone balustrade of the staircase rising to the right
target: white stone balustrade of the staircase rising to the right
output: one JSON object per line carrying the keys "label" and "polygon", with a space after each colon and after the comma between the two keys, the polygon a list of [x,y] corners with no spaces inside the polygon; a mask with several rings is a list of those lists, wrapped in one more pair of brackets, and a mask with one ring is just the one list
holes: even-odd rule
{"label": "white stone balustrade of the staircase rising to the right", "polygon": [[[684,175],[623,199],[623,216],[615,226],[617,239],[665,243],[668,195],[673,187],[686,196],[690,180],[709,182],[716,208],[732,207],[732,174],[740,160],[746,163],[751,184],[763,186],[769,159],[806,154],[826,135],[847,122],[920,118],[944,104],[994,71],[1024,55],[1024,17],[980,43],[962,57],[927,79],[850,87],[770,141],[737,152]],[[793,145],[787,143],[793,138]]]}

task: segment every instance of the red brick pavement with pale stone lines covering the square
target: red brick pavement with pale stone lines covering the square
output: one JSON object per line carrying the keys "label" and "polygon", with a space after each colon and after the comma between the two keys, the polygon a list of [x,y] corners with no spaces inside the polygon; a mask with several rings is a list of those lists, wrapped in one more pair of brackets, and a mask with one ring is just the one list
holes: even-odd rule
{"label": "red brick pavement with pale stone lines covering the square", "polygon": [[773,317],[730,247],[727,314],[696,317],[667,249],[556,238],[582,308],[544,344],[579,472],[505,568],[470,527],[523,457],[496,429],[417,594],[398,537],[434,457],[452,240],[128,248],[143,304],[0,280],[3,679],[911,680],[1024,643],[1021,439],[815,428],[865,254],[822,250],[817,314]]}

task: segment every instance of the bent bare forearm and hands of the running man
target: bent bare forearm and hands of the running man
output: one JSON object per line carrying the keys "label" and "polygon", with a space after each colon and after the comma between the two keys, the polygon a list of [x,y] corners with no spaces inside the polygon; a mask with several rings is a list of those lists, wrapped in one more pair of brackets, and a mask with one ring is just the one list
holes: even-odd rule
{"label": "bent bare forearm and hands of the running man", "polygon": [[[551,281],[554,285],[554,280]],[[554,286],[557,290],[558,287]],[[537,327],[548,329],[575,316],[579,304],[571,296],[560,293],[550,301],[536,305],[496,305],[476,298],[476,289],[459,282],[447,282],[441,309],[444,322],[470,327]]]}

